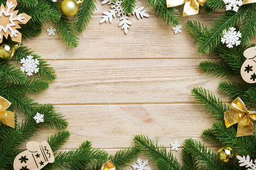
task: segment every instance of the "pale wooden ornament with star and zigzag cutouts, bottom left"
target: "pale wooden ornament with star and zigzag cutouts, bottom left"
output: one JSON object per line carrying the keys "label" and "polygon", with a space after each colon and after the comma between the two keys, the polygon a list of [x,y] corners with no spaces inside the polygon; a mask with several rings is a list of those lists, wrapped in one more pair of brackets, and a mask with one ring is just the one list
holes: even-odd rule
{"label": "pale wooden ornament with star and zigzag cutouts, bottom left", "polygon": [[51,146],[46,141],[27,143],[27,150],[19,153],[13,162],[14,170],[37,170],[42,169],[48,163],[54,162]]}

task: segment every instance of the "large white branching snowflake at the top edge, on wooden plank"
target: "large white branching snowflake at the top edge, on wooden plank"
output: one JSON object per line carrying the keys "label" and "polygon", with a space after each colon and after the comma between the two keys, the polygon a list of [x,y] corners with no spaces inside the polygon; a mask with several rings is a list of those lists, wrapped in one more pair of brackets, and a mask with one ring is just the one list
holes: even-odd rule
{"label": "large white branching snowflake at the top edge, on wooden plank", "polygon": [[102,15],[102,19],[100,20],[100,24],[103,22],[109,22],[111,23],[113,21],[113,18],[118,17],[120,18],[120,23],[118,24],[119,27],[124,29],[125,34],[127,34],[128,29],[130,28],[130,25],[132,25],[131,21],[129,21],[129,17],[131,15],[136,15],[137,19],[144,17],[149,17],[148,13],[146,13],[143,6],[140,8],[135,8],[133,13],[125,13],[124,9],[122,8],[122,0],[100,0],[102,1],[102,4],[109,4],[110,10],[104,11]]}

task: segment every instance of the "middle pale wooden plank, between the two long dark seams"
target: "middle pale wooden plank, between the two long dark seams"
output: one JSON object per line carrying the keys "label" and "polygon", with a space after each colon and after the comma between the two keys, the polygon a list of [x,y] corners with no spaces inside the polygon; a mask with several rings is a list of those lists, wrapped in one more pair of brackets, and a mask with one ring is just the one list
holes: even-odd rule
{"label": "middle pale wooden plank, between the two long dark seams", "polygon": [[34,96],[40,103],[194,103],[193,87],[218,92],[220,79],[202,73],[202,59],[51,60],[58,78]]}

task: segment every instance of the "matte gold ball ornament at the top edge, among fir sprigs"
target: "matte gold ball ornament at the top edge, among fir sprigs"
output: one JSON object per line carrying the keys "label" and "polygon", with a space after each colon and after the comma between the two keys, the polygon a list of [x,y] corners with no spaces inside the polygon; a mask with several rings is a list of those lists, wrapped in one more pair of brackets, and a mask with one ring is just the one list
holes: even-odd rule
{"label": "matte gold ball ornament at the top edge, among fir sprigs", "polygon": [[78,4],[74,0],[65,0],[61,3],[61,12],[67,17],[76,15],[78,11]]}

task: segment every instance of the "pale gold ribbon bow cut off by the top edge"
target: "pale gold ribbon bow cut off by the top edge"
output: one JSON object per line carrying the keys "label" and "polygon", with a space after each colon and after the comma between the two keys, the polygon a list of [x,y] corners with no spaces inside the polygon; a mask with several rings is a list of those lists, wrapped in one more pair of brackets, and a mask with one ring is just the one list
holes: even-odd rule
{"label": "pale gold ribbon bow cut off by the top edge", "polygon": [[[183,17],[196,15],[199,11],[199,4],[204,6],[207,0],[166,0],[167,7],[184,5]],[[254,0],[255,1],[255,0]]]}

